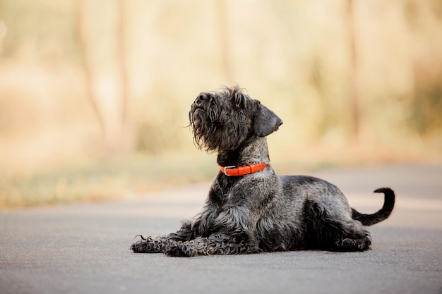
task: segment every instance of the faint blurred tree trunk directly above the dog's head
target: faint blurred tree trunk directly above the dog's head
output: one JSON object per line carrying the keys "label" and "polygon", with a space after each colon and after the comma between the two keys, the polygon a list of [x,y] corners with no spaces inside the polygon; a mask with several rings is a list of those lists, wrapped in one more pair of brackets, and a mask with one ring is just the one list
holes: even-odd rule
{"label": "faint blurred tree trunk directly above the dog's head", "polygon": [[229,43],[229,27],[227,22],[227,7],[225,0],[215,1],[215,13],[217,16],[217,29],[220,36],[220,54],[222,71],[227,82],[234,82],[232,71],[233,58]]}

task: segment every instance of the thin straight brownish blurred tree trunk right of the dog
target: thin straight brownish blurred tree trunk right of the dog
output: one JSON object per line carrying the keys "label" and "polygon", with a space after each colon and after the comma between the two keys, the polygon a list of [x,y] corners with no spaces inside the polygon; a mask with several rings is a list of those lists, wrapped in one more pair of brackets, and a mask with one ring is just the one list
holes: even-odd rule
{"label": "thin straight brownish blurred tree trunk right of the dog", "polygon": [[350,72],[350,111],[354,139],[359,142],[361,135],[361,111],[359,106],[359,61],[357,56],[356,16],[354,15],[354,0],[348,0],[348,27],[351,54]]}

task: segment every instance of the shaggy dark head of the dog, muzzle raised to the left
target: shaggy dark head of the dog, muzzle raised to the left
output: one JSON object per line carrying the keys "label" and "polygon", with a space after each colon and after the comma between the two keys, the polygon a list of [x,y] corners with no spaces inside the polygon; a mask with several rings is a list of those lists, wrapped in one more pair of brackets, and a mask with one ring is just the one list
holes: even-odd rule
{"label": "shaggy dark head of the dog, muzzle raised to the left", "polygon": [[189,111],[193,140],[208,151],[229,151],[253,136],[265,137],[282,124],[273,111],[239,87],[198,94]]}

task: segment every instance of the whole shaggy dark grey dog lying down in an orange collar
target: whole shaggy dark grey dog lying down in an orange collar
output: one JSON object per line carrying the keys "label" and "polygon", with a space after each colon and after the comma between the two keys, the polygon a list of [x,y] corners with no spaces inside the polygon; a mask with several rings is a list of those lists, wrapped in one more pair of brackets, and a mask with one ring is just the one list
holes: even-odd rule
{"label": "whole shaggy dark grey dog lying down in an orange collar", "polygon": [[364,251],[366,226],[390,216],[395,192],[380,188],[375,214],[352,209],[333,184],[311,176],[278,176],[270,166],[266,137],[282,120],[239,87],[202,92],[191,105],[189,126],[199,149],[217,152],[217,173],[201,212],[179,231],[144,238],[133,252],[173,257],[284,250]]}

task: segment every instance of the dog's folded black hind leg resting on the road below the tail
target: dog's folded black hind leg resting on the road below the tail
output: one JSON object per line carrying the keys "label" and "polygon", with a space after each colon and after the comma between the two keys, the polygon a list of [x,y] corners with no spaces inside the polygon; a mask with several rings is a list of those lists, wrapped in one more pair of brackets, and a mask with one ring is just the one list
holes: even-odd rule
{"label": "dog's folded black hind leg resting on the road below the tail", "polygon": [[309,211],[309,245],[321,250],[364,251],[371,247],[369,231],[359,221],[348,218],[337,219],[316,202],[306,204]]}

